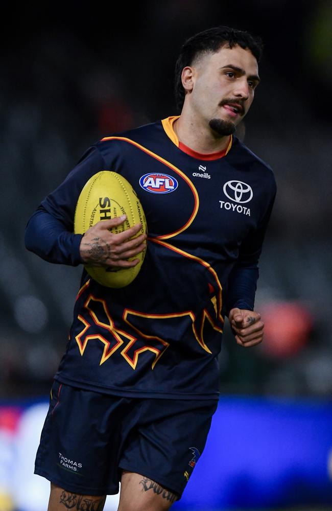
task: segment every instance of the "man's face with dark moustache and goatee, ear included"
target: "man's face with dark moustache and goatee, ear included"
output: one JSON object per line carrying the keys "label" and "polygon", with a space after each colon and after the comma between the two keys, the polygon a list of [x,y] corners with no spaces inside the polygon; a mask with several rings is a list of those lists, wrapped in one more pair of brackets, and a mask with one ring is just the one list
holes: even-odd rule
{"label": "man's face with dark moustache and goatee, ear included", "polygon": [[200,56],[184,68],[183,78],[186,100],[198,123],[207,123],[216,135],[229,135],[253,101],[259,82],[258,65],[250,50],[226,46],[217,53]]}

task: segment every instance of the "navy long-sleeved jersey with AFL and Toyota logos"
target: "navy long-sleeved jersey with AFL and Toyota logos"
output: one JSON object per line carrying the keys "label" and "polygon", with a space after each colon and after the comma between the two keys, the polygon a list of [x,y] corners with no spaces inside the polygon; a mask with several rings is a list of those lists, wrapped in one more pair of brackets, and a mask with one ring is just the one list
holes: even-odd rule
{"label": "navy long-sleeved jersey with AFL and Toyota logos", "polygon": [[28,223],[28,249],[80,264],[75,207],[101,170],[128,179],[147,218],[146,257],[130,285],[106,288],[83,270],[60,382],[128,397],[218,397],[224,316],[253,310],[276,186],[236,137],[223,157],[183,150],[175,119],[92,146]]}

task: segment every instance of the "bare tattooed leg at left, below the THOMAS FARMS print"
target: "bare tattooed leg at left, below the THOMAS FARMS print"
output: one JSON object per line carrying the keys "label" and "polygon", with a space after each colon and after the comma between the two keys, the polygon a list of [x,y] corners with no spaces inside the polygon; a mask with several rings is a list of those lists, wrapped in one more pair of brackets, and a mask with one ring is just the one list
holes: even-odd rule
{"label": "bare tattooed leg at left, below the THOMAS FARMS print", "polygon": [[106,495],[80,495],[67,492],[51,483],[51,495],[48,511],[103,511]]}

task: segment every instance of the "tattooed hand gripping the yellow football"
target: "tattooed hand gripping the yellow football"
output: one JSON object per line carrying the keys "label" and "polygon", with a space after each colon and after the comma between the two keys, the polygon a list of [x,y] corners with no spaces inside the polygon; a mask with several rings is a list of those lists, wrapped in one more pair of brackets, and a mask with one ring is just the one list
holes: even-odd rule
{"label": "tattooed hand gripping the yellow football", "polygon": [[139,260],[128,261],[128,258],[139,254],[146,247],[146,234],[133,238],[139,233],[141,224],[138,223],[118,234],[113,234],[109,230],[124,223],[126,218],[126,215],[122,215],[111,220],[101,220],[86,231],[80,244],[80,255],[84,264],[104,268],[136,266]]}

